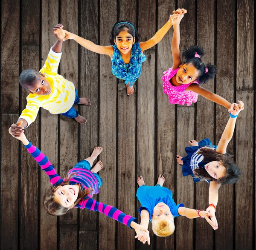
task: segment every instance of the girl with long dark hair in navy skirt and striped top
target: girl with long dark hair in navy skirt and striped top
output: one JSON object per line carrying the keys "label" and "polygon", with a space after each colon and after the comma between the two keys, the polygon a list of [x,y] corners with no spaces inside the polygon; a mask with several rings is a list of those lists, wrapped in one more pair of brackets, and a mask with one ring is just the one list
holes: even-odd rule
{"label": "girl with long dark hair in navy skirt and striped top", "polygon": [[[212,145],[209,139],[200,142],[192,140],[189,142],[191,147],[186,147],[187,156],[177,155],[177,162],[182,165],[183,176],[191,175],[194,182],[206,181],[209,186],[209,207],[207,211],[215,214],[218,203],[218,189],[221,185],[236,183],[241,177],[241,170],[233,159],[227,154],[227,145],[230,142],[236,125],[236,118],[244,103],[233,103],[232,114],[224,129],[218,146]],[[216,225],[215,216],[213,221]]]}

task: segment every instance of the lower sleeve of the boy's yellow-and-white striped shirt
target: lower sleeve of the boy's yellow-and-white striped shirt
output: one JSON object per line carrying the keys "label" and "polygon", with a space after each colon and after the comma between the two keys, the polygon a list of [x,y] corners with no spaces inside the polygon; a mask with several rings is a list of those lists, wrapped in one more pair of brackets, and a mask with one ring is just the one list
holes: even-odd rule
{"label": "lower sleeve of the boy's yellow-and-white striped shirt", "polygon": [[27,97],[27,105],[26,108],[22,111],[20,118],[27,121],[27,127],[32,123],[35,122],[35,118],[38,114],[40,108],[40,102],[36,98]]}

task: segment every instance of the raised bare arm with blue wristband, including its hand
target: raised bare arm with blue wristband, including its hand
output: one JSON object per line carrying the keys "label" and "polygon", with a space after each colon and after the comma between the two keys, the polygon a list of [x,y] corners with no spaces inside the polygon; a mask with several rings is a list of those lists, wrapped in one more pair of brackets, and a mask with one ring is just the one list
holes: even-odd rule
{"label": "raised bare arm with blue wristband, including its hand", "polygon": [[230,117],[227,122],[227,125],[223,131],[221,139],[218,143],[216,148],[216,152],[218,153],[226,153],[227,152],[227,145],[229,144],[230,140],[233,137],[235,126],[236,126],[236,118],[241,110],[244,109],[244,102],[238,101],[239,104],[233,103],[230,110],[232,111],[232,115],[236,117]]}

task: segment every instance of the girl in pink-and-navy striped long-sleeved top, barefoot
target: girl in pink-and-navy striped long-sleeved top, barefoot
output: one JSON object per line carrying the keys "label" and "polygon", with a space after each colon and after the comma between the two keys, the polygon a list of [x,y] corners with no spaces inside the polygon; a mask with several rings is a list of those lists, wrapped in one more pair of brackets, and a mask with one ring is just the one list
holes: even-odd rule
{"label": "girl in pink-and-navy striped long-sleeved top, barefoot", "polygon": [[[20,123],[22,123],[22,121]],[[47,156],[32,145],[32,143],[26,139],[24,133],[17,139],[23,143],[42,170],[49,176],[51,187],[46,191],[43,201],[47,213],[60,216],[69,212],[73,207],[80,209],[87,208],[103,213],[130,228],[134,228],[137,236],[141,236],[141,233],[144,232],[145,234],[143,235],[146,237],[148,230],[144,229],[140,224],[137,224],[136,218],[125,215],[125,213],[122,213],[115,207],[105,205],[93,199],[93,194],[99,193],[99,188],[102,186],[102,179],[98,175],[99,170],[103,167],[102,162],[97,162],[91,169],[93,162],[102,152],[101,147],[94,148],[90,157],[78,162],[69,170],[66,178],[62,179],[56,173]]]}

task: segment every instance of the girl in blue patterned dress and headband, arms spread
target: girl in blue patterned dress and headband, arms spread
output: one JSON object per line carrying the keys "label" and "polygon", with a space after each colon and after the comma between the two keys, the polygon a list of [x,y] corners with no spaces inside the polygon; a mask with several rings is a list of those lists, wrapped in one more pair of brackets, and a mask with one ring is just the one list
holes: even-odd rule
{"label": "girl in blue patterned dress and headband, arms spread", "polygon": [[[184,14],[186,10],[182,9],[180,13]],[[170,15],[167,23],[157,31],[154,37],[145,42],[140,42],[140,34],[135,25],[125,20],[114,24],[110,35],[110,46],[96,45],[68,31],[65,31],[66,38],[64,40],[73,39],[90,51],[110,56],[113,75],[125,80],[127,94],[130,95],[134,92],[134,82],[140,77],[142,63],[146,60],[143,52],[162,40],[178,16],[179,14]]]}

